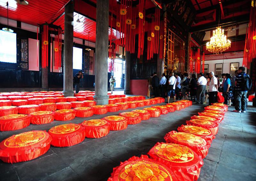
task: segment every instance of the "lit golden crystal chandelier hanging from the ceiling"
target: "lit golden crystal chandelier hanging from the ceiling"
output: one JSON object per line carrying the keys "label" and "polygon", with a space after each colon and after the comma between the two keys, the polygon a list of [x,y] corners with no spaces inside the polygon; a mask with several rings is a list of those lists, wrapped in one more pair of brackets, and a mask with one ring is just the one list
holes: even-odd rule
{"label": "lit golden crystal chandelier hanging from the ceiling", "polygon": [[219,54],[227,50],[231,46],[230,40],[224,35],[224,30],[218,26],[212,33],[210,41],[206,43],[206,50],[214,54]]}

